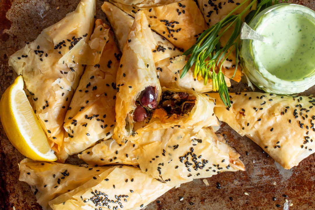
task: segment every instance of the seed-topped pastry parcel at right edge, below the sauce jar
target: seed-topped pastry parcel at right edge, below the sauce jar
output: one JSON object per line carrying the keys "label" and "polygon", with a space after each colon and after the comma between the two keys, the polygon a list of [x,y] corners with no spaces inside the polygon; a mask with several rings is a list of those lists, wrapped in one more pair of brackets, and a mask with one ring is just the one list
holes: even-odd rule
{"label": "seed-topped pastry parcel at right edge, below the sauce jar", "polygon": [[215,115],[241,136],[246,135],[284,168],[297,166],[314,152],[315,98],[244,92],[230,93],[226,108],[219,94]]}

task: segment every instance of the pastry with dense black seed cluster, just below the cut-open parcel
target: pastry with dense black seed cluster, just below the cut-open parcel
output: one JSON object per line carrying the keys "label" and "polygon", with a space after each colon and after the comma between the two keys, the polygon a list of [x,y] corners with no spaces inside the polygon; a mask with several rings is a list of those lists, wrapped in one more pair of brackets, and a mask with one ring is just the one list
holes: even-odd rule
{"label": "pastry with dense black seed cluster, just below the cut-open parcel", "polygon": [[[209,128],[168,128],[138,135],[133,153],[143,172],[162,183],[177,185],[224,171],[245,170],[240,156]],[[197,161],[197,162],[195,162]]]}

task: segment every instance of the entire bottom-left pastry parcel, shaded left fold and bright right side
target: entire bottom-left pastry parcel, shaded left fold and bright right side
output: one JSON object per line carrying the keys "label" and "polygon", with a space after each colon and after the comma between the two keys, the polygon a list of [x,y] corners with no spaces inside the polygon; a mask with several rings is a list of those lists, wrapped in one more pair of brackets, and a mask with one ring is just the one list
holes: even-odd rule
{"label": "entire bottom-left pastry parcel, shaded left fold and bright right side", "polygon": [[44,210],[138,210],[174,187],[133,166],[90,167],[29,159],[20,163],[20,180],[31,185]]}

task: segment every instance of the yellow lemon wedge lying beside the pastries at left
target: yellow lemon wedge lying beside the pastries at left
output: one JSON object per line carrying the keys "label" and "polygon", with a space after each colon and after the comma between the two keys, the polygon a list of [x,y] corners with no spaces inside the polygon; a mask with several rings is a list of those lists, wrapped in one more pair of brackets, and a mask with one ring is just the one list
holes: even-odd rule
{"label": "yellow lemon wedge lying beside the pastries at left", "polygon": [[12,145],[24,156],[36,161],[55,161],[48,138],[39,124],[23,90],[23,77],[17,77],[2,95],[0,118]]}

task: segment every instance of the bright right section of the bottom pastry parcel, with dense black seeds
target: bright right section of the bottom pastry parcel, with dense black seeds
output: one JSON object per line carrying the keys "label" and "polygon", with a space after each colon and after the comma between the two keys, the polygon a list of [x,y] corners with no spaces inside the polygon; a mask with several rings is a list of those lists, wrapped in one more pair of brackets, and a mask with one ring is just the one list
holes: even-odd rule
{"label": "bright right section of the bottom pastry parcel, with dense black seeds", "polygon": [[138,167],[116,166],[55,198],[49,205],[54,210],[94,210],[96,204],[104,209],[140,210],[173,187],[156,181]]}

